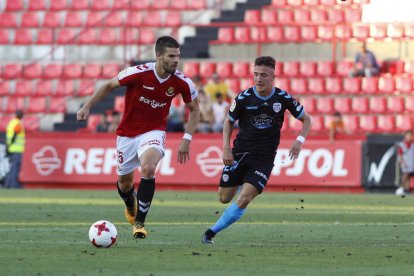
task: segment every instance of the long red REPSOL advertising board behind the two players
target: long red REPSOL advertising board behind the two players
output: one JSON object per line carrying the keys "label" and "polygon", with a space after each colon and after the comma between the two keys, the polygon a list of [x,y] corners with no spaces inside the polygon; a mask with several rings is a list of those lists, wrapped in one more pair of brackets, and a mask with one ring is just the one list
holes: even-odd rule
{"label": "long red REPSOL advertising board behind the two players", "polygon": [[[177,162],[180,141],[180,136],[167,135],[157,184],[217,187],[223,167],[221,137],[195,136],[191,159],[184,165]],[[295,162],[288,157],[291,143],[284,141],[279,146],[269,187],[361,187],[361,141],[329,144],[308,139]],[[29,185],[113,185],[117,178],[115,138],[87,134],[29,136],[20,177]]]}

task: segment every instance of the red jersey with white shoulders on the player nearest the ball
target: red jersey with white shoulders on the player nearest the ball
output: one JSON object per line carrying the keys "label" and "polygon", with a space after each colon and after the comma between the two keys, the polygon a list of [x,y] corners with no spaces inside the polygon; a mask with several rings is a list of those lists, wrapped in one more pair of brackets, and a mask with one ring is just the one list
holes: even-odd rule
{"label": "red jersey with white shoulders on the player nearest the ball", "polygon": [[118,74],[126,86],[125,111],[116,134],[135,137],[151,130],[166,130],[172,99],[181,94],[185,103],[198,96],[193,82],[180,71],[161,79],[155,62],[129,67]]}

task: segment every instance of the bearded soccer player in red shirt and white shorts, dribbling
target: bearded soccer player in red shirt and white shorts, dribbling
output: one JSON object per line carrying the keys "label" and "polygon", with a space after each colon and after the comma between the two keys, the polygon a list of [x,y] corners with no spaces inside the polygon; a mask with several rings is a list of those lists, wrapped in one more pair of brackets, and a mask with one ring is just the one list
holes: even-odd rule
{"label": "bearded soccer player in red shirt and white shorts, dribbling", "polygon": [[[125,111],[117,133],[118,193],[125,202],[125,216],[135,238],[143,239],[155,192],[155,169],[164,156],[165,130],[172,99],[181,94],[190,110],[187,129],[178,148],[178,162],[190,155],[190,141],[200,117],[198,91],[193,82],[177,71],[178,42],[169,36],[157,39],[156,62],[129,67],[107,81],[79,109],[77,119],[87,120],[92,106],[119,86],[126,86]],[[134,193],[134,171],[141,167],[141,183]]]}

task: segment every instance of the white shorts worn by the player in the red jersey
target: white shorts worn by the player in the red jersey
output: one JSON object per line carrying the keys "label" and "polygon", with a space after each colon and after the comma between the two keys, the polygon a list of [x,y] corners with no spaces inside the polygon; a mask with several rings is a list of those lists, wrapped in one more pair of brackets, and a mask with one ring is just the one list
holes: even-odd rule
{"label": "white shorts worn by the player in the red jersey", "polygon": [[135,137],[116,138],[117,173],[126,175],[138,168],[139,158],[149,148],[156,148],[164,157],[165,131],[153,130]]}

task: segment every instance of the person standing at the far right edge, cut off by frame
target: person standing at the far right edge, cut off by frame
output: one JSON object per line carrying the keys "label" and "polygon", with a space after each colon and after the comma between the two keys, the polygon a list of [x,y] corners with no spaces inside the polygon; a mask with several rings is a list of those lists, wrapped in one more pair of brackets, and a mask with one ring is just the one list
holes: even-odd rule
{"label": "person standing at the far right edge, cut off by frame", "polygon": [[398,144],[398,163],[401,168],[401,186],[395,191],[396,195],[407,195],[410,192],[410,178],[414,176],[414,142],[412,130],[404,132],[404,140]]}

